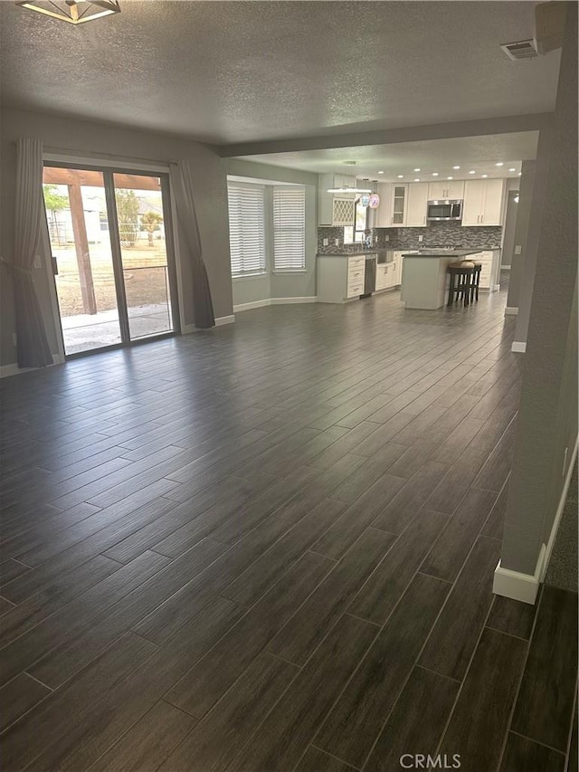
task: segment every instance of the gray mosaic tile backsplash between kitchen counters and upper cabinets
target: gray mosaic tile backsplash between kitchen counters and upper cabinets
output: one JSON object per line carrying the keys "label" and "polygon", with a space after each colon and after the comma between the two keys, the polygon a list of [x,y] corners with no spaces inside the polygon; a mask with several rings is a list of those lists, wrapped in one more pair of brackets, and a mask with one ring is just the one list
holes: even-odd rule
{"label": "gray mosaic tile backsplash between kitchen counters and upper cabinets", "polygon": [[[385,240],[385,236],[389,240]],[[423,249],[426,247],[451,246],[465,249],[493,249],[500,247],[502,228],[497,226],[462,227],[457,223],[434,223],[425,228],[375,228],[372,245],[375,249]],[[422,236],[422,242],[418,237]],[[327,239],[328,246],[323,246]],[[339,247],[335,245],[339,239]],[[360,244],[344,244],[344,228],[318,228],[318,253],[359,252]]]}

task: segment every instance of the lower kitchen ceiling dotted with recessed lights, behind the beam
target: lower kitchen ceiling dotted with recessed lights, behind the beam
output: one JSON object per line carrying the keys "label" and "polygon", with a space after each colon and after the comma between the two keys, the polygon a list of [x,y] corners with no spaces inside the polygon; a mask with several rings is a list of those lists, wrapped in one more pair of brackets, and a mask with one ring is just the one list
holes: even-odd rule
{"label": "lower kitchen ceiling dotted with recessed lights, behind the beam", "polygon": [[[276,167],[290,167],[318,174],[349,174],[382,182],[397,181],[398,175],[403,175],[405,182],[412,182],[417,177],[422,181],[430,181],[435,179],[432,172],[438,172],[441,179],[447,176],[468,179],[471,169],[476,172],[475,176],[517,176],[520,162],[536,157],[537,137],[536,131],[519,131],[485,137],[302,150],[245,158]],[[356,161],[356,164],[346,164],[346,161]],[[498,163],[504,166],[498,167]],[[460,166],[460,169],[453,169],[454,166]],[[420,168],[420,172],[414,172],[415,168]],[[515,172],[509,172],[509,168],[514,168]],[[384,174],[379,175],[380,171]]]}

